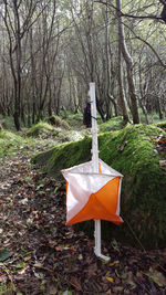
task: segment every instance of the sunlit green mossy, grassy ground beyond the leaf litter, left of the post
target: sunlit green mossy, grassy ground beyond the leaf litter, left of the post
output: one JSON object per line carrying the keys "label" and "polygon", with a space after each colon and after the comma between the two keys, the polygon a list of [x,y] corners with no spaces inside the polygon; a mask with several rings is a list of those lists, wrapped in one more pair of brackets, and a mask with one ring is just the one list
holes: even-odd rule
{"label": "sunlit green mossy, grassy ground beyond the leaf litter, left of the post", "polygon": [[40,122],[30,129],[22,128],[20,133],[9,131],[0,125],[0,157],[17,154],[20,149],[27,151],[32,148],[38,151],[39,146],[49,148],[80,138],[83,135],[77,130],[54,127],[45,122]]}

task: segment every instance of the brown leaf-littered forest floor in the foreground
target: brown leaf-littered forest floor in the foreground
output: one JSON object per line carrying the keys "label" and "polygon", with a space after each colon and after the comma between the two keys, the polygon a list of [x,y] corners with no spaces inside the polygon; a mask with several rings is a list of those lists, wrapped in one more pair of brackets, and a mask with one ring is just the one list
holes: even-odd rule
{"label": "brown leaf-littered forest floor in the foreground", "polygon": [[0,161],[0,295],[166,294],[166,250],[94,241],[65,226],[65,183],[30,164],[32,150]]}

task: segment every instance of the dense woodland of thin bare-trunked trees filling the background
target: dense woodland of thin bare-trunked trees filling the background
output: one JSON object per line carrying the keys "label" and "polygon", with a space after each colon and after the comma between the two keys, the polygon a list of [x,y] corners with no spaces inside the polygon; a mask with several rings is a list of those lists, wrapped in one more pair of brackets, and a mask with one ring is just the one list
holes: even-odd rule
{"label": "dense woodland of thin bare-trunked trees filling the background", "polygon": [[102,120],[162,119],[165,10],[164,0],[1,0],[0,114],[19,130],[83,110],[95,82]]}

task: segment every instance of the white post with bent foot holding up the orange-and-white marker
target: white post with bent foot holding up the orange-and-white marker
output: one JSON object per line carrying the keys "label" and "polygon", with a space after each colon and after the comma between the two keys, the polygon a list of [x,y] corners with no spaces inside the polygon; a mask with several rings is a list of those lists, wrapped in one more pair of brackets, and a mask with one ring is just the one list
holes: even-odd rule
{"label": "white post with bent foot holding up the orange-and-white marker", "polygon": [[[90,83],[90,98],[91,98],[91,116],[92,116],[92,162],[93,172],[98,172],[98,140],[97,140],[97,120],[96,120],[96,99],[95,99],[95,83]],[[96,256],[108,261],[110,257],[101,253],[101,220],[94,221],[94,238]]]}

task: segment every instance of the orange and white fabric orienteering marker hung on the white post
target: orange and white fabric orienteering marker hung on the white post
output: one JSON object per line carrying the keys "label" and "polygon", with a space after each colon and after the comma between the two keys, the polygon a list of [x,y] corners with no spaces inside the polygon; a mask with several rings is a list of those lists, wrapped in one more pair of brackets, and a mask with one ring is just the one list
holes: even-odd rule
{"label": "orange and white fabric orienteering marker hung on the white post", "polygon": [[123,222],[120,172],[100,159],[98,173],[93,172],[92,161],[64,169],[62,173],[66,180],[66,225],[90,219]]}

